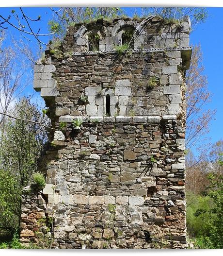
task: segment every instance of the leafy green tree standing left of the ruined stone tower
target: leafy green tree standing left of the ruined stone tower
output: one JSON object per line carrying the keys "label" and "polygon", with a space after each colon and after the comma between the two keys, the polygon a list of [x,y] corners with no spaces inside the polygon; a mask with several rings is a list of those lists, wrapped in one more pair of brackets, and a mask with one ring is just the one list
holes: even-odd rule
{"label": "leafy green tree standing left of the ruined stone tower", "polygon": [[16,103],[14,115],[6,120],[0,151],[0,231],[10,233],[19,229],[22,188],[30,185],[47,141],[46,127],[23,119],[48,124],[30,99]]}

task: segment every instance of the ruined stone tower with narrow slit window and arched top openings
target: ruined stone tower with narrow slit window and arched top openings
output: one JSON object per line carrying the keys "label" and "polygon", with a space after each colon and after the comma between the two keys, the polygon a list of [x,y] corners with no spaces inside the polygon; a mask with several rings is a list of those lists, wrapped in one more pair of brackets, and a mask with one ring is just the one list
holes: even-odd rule
{"label": "ruined stone tower with narrow slit window and arched top openings", "polygon": [[186,247],[190,20],[142,21],[69,27],[36,63],[33,86],[58,131],[40,167],[46,187],[23,196],[24,243],[51,216],[53,248]]}

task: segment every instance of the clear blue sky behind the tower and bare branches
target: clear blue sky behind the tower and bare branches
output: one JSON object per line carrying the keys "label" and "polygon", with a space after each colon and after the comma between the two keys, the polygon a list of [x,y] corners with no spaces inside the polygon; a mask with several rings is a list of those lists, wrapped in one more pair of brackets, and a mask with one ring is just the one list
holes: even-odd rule
{"label": "clear blue sky behind the tower and bare branches", "polygon": [[[18,8],[0,8],[0,14],[4,17],[8,17],[12,9],[19,12]],[[124,8],[125,11],[133,15],[136,8]],[[48,33],[48,20],[52,17],[52,11],[46,8],[23,8],[24,12],[32,18],[41,16],[41,21],[34,22],[34,30],[38,30],[41,27],[40,33]],[[211,142],[223,138],[223,88],[222,88],[222,69],[223,69],[223,8],[207,8],[209,17],[205,23],[201,23],[196,27],[196,30],[191,33],[190,42],[191,45],[201,44],[203,51],[203,65],[205,67],[205,73],[208,78],[208,89],[212,94],[212,102],[208,103],[207,108],[217,109],[215,120],[211,121],[210,133],[208,137],[211,137]],[[11,30],[12,34],[16,37],[21,37],[18,31]],[[47,43],[48,38],[44,38]],[[9,40],[5,43],[9,44]],[[38,45],[32,38],[32,42],[29,42],[34,51],[38,51]],[[26,95],[33,94],[34,90],[30,85],[24,93]],[[35,97],[39,97],[39,93],[35,93]]]}

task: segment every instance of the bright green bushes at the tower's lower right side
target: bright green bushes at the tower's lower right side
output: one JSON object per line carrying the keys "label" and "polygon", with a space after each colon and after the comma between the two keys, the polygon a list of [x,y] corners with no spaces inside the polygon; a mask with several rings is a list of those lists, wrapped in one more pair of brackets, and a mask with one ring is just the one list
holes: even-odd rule
{"label": "bright green bushes at the tower's lower right side", "polygon": [[223,175],[210,172],[208,180],[205,196],[187,197],[188,232],[199,248],[223,248]]}

